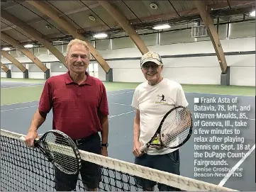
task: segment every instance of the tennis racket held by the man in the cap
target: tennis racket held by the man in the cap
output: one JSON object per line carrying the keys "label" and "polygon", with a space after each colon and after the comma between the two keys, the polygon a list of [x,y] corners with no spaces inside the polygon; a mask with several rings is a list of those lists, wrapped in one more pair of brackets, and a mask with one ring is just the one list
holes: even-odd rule
{"label": "tennis racket held by the man in the cap", "polygon": [[177,106],[162,118],[155,135],[148,143],[140,147],[145,152],[148,147],[176,149],[184,145],[192,134],[193,120],[188,108]]}

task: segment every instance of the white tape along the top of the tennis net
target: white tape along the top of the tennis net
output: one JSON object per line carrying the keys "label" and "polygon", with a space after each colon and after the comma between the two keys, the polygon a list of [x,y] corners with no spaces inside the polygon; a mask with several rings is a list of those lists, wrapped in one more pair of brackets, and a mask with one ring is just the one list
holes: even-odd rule
{"label": "white tape along the top of the tennis net", "polygon": [[[1,136],[10,137],[23,142],[26,135],[21,135],[15,132],[1,129]],[[113,159],[111,157],[104,157],[99,154],[93,154],[81,150],[79,150],[79,152],[81,154],[81,158],[85,161],[99,164],[101,166],[106,166],[109,169],[115,169],[116,171],[121,171],[123,173],[133,176],[139,176],[144,179],[156,181],[158,183],[164,183],[167,186],[180,188],[184,191],[236,191],[231,188],[217,186],[211,183],[206,183],[204,181],[199,181],[196,179],[190,179],[184,176],[169,174],[164,171],[158,171],[156,169],[150,169],[145,166],[139,166],[129,162],[123,162],[121,160]]]}

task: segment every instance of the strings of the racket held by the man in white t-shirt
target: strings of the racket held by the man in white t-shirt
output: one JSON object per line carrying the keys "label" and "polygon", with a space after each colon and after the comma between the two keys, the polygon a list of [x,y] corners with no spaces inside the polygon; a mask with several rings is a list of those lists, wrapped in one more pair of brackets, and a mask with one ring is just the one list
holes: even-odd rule
{"label": "strings of the racket held by the man in white t-shirt", "polygon": [[165,118],[160,140],[165,147],[174,147],[187,139],[191,128],[191,115],[187,109],[177,108]]}

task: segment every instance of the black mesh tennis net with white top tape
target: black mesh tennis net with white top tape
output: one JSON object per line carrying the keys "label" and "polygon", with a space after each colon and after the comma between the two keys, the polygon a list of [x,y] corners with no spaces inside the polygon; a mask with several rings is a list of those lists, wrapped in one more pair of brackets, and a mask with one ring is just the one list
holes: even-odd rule
{"label": "black mesh tennis net with white top tape", "polygon": [[[37,148],[26,147],[25,135],[1,129],[1,191],[55,191],[54,167]],[[99,191],[143,191],[143,178],[181,191],[235,191],[211,183],[80,151],[82,159],[102,167]],[[86,191],[81,177],[75,191]]]}

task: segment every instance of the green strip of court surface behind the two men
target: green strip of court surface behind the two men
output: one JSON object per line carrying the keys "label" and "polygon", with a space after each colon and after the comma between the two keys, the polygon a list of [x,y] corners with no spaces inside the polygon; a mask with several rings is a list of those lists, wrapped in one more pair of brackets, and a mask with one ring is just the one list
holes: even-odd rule
{"label": "green strip of court surface behind the two men", "polygon": [[[6,79],[1,82],[40,84],[36,86],[1,87],[1,105],[38,101],[43,90],[44,79]],[[135,89],[140,83],[104,82],[107,91]],[[187,93],[222,94],[236,96],[255,96],[255,86],[220,86],[182,84]]]}

